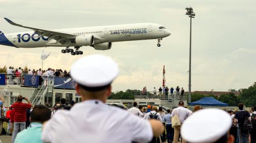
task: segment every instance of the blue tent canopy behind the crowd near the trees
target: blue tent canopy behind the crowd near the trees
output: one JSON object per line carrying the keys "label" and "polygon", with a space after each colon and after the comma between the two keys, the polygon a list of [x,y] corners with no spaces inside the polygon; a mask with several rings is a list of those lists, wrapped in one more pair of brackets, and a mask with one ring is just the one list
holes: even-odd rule
{"label": "blue tent canopy behind the crowd near the trees", "polygon": [[188,103],[188,105],[203,105],[203,106],[228,106],[228,104],[216,100],[213,97],[204,97],[196,102]]}

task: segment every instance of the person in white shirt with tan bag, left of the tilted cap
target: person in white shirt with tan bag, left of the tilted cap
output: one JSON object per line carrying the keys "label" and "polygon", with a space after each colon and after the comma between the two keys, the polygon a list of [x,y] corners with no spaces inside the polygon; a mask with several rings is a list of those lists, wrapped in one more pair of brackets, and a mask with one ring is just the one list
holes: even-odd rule
{"label": "person in white shirt with tan bag, left of the tilted cap", "polygon": [[[174,116],[177,115],[179,117],[179,119],[180,119],[180,123],[181,123],[181,126],[182,126],[182,123],[184,122],[184,120],[189,115],[191,115],[192,111],[190,111],[187,108],[184,108],[184,102],[183,101],[180,101],[178,106],[179,107],[173,109],[171,117],[174,118]],[[174,143],[178,142],[181,126],[174,127]],[[185,139],[182,139],[182,143],[183,142],[186,142]]]}

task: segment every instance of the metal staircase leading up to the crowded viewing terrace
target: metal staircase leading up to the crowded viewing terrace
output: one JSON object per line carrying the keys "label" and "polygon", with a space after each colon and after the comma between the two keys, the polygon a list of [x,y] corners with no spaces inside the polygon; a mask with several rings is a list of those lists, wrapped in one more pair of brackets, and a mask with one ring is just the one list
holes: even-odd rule
{"label": "metal staircase leading up to the crowded viewing terrace", "polygon": [[31,104],[32,105],[38,105],[41,103],[42,101],[42,98],[45,97],[46,93],[47,93],[47,90],[48,90],[48,78],[47,77],[44,81],[47,81],[47,82],[43,82],[41,87],[38,87],[33,95],[31,96],[31,98],[29,99]]}

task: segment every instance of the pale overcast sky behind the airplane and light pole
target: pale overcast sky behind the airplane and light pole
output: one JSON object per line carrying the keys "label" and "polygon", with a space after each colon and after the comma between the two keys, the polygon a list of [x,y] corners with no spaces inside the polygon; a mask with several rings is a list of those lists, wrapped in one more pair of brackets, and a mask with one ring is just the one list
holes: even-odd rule
{"label": "pale overcast sky behind the airplane and light pole", "polygon": [[[45,28],[72,28],[152,22],[171,33],[157,47],[157,40],[116,42],[111,50],[80,48],[85,55],[101,53],[114,58],[120,75],[114,91],[148,91],[162,85],[166,67],[167,87],[188,90],[189,18],[186,7],[193,7],[196,18],[192,29],[192,91],[228,91],[248,88],[256,72],[256,1],[17,1],[0,0],[0,23],[4,33],[29,31],[10,25],[14,22]],[[0,45],[0,66],[39,69],[42,49],[51,52],[44,67],[69,70],[83,55],[60,52],[61,47],[14,48]]]}

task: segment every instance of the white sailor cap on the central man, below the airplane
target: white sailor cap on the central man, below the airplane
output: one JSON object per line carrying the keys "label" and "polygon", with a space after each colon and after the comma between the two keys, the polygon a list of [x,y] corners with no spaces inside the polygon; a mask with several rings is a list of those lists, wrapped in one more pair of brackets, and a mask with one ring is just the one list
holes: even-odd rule
{"label": "white sailor cap on the central man, below the airplane", "polygon": [[77,60],[71,67],[71,77],[88,91],[108,87],[119,73],[117,63],[102,54],[92,54]]}

